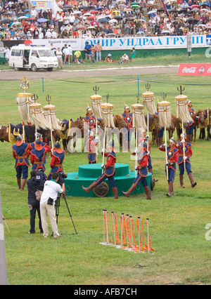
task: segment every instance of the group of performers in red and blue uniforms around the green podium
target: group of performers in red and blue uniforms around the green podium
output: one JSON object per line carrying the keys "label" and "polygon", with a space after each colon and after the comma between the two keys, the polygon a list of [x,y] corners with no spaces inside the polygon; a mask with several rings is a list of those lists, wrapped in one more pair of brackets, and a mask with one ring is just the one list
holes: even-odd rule
{"label": "group of performers in red and blue uniforms around the green podium", "polygon": [[[188,101],[188,109],[191,117],[194,117],[194,109],[192,108],[191,101]],[[132,114],[130,113],[129,107],[127,105],[124,106],[124,113],[122,114],[124,117],[124,121],[127,123],[127,128],[123,132],[124,138],[123,140],[129,142],[131,140],[131,130],[132,128]],[[92,114],[92,110],[90,107],[87,108],[86,114],[87,123],[89,124],[89,138],[86,140],[87,150],[88,150],[88,162],[89,164],[96,163],[96,145],[98,144],[98,136],[95,136],[95,128],[96,128],[96,119]],[[162,131],[163,133],[163,131]],[[169,190],[167,192],[167,196],[171,197],[174,194],[173,190],[173,182],[176,173],[176,164],[179,166],[179,180],[181,188],[184,188],[183,176],[184,176],[184,168],[188,173],[188,177],[191,181],[191,186],[195,187],[196,182],[193,180],[193,174],[191,171],[191,162],[190,157],[192,156],[191,150],[191,137],[193,135],[193,123],[188,124],[187,134],[181,134],[181,140],[176,142],[174,138],[170,139],[169,146],[162,145],[161,139],[159,139],[159,150],[165,151],[167,150],[167,164],[165,165],[165,171],[167,173],[167,181],[169,184]],[[162,137],[158,137],[162,138]],[[139,132],[138,136],[138,149],[136,149],[138,166],[136,166],[137,176],[132,184],[132,186],[127,190],[127,192],[122,191],[126,197],[129,197],[130,194],[135,190],[136,186],[140,183],[143,185],[143,189],[146,192],[146,199],[151,199],[151,191],[148,187],[146,177],[148,175],[148,171],[153,175],[153,166],[151,164],[151,147],[150,140],[148,136],[146,136],[146,131],[143,129]],[[115,163],[116,163],[116,154],[114,148],[114,142],[108,142],[108,152],[103,149],[102,154],[104,157],[107,157],[106,164],[102,165],[103,173],[97,178],[89,187],[82,186],[82,189],[89,193],[93,190],[97,185],[101,184],[103,180],[108,178],[108,182],[110,183],[110,187],[113,190],[114,198],[118,199],[118,191],[115,185]],[[37,133],[36,140],[31,144],[27,144],[23,141],[21,135],[18,136],[17,142],[12,146],[13,157],[15,159],[15,169],[16,169],[16,178],[18,182],[18,188],[20,190],[24,190],[25,183],[28,177],[28,167],[30,167],[30,162],[32,164],[32,170],[38,171],[40,173],[44,173],[46,170],[46,153],[51,152],[51,171],[47,176],[46,180],[51,180],[51,175],[53,173],[63,173],[63,161],[65,159],[65,151],[61,149],[60,142],[55,142],[53,150],[51,147],[47,145],[41,138],[41,135]],[[135,154],[136,154],[135,153]],[[134,154],[134,153],[132,153]],[[30,156],[31,155],[31,156]],[[184,161],[185,160],[185,161]],[[21,175],[22,182],[21,182]],[[153,180],[155,180],[153,178]],[[64,184],[64,181],[63,181]]]}

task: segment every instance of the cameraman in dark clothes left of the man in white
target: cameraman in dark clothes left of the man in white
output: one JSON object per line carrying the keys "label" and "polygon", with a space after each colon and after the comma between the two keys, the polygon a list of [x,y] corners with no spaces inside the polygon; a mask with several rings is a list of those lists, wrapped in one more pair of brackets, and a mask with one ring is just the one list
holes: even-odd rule
{"label": "cameraman in dark clothes left of the man in white", "polygon": [[36,171],[31,171],[31,178],[27,180],[27,189],[28,189],[28,206],[30,208],[30,232],[29,234],[35,233],[35,217],[36,211],[39,217],[39,230],[43,233],[41,227],[41,216],[40,216],[40,208],[39,201],[36,198],[37,190],[43,191],[45,178],[41,178],[41,180],[36,180]]}

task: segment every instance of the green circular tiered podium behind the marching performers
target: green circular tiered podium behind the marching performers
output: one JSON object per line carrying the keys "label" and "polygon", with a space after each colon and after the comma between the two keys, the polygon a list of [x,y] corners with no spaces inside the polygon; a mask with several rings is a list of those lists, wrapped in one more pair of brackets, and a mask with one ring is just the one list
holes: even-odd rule
{"label": "green circular tiered podium behind the marching performers", "polygon": [[[97,197],[94,194],[94,191],[91,190],[89,194],[82,190],[82,185],[84,187],[89,187],[94,180],[96,180],[102,174],[101,164],[85,164],[81,165],[78,168],[77,172],[68,173],[68,178],[65,178],[65,190],[66,194],[71,197]],[[151,190],[151,177],[152,174],[148,173],[146,180],[148,183],[148,187]],[[122,194],[122,190],[125,192],[131,187],[134,179],[136,178],[136,171],[129,171],[128,164],[115,164],[115,183],[117,186],[117,190],[120,196],[124,196]],[[108,179],[104,182],[108,184],[109,190],[106,197],[113,197],[112,189],[109,185]],[[132,194],[140,194],[145,193],[143,190],[143,186],[141,184],[137,185],[136,189]]]}

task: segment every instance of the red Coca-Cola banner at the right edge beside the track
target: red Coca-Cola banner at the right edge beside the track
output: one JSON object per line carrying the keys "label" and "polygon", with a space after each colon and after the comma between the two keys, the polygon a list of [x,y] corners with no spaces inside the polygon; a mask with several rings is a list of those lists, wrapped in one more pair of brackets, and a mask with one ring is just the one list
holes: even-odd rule
{"label": "red Coca-Cola banner at the right edge beside the track", "polygon": [[211,63],[181,63],[179,76],[211,76]]}

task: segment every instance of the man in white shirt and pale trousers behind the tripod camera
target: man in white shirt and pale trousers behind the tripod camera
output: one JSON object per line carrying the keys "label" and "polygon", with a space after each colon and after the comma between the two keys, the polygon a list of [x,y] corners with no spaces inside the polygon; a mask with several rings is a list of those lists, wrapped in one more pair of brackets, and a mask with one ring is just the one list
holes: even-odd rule
{"label": "man in white shirt and pale trousers behind the tripod camera", "polygon": [[41,215],[41,227],[43,229],[43,237],[49,237],[49,228],[47,223],[47,214],[51,222],[51,228],[53,230],[53,237],[58,238],[60,234],[58,233],[58,227],[56,223],[56,211],[55,211],[55,201],[57,199],[58,193],[63,193],[62,187],[58,182],[58,173],[53,173],[51,180],[46,180],[44,184],[43,194],[40,200],[40,215]]}

